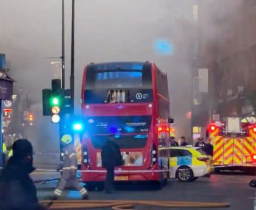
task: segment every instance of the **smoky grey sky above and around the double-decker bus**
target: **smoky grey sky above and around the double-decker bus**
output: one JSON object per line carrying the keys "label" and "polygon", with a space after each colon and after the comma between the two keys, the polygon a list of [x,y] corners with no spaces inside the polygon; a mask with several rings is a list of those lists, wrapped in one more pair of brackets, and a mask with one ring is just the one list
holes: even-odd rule
{"label": "smoky grey sky above and around the double-decker bus", "polygon": [[[66,0],[66,82],[69,82],[71,0]],[[168,72],[171,113],[180,135],[189,132],[193,0],[76,0],[75,80],[79,103],[84,66],[102,61],[154,61]],[[39,102],[61,53],[61,0],[0,0],[0,51],[10,74]],[[174,55],[159,55],[154,43],[168,39]]]}

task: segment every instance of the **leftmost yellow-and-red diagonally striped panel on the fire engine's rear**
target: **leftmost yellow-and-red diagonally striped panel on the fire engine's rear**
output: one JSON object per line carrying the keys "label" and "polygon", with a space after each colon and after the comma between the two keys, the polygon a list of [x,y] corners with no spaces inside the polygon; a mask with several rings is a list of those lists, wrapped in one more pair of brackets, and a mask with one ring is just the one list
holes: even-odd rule
{"label": "leftmost yellow-and-red diagonally striped panel on the fire engine's rear", "polygon": [[213,165],[220,165],[223,161],[224,141],[222,136],[216,136],[213,147]]}

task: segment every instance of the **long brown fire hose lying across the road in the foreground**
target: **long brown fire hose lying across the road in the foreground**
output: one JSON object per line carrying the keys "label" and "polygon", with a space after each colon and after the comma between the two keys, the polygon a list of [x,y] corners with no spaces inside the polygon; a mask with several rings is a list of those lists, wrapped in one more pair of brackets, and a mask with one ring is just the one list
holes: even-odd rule
{"label": "long brown fire hose lying across the road in the foreground", "polygon": [[208,203],[190,201],[157,201],[157,200],[56,200],[41,201],[43,205],[51,205],[49,209],[91,209],[112,208],[113,210],[135,210],[135,205],[156,206],[165,208],[226,208],[229,203]]}

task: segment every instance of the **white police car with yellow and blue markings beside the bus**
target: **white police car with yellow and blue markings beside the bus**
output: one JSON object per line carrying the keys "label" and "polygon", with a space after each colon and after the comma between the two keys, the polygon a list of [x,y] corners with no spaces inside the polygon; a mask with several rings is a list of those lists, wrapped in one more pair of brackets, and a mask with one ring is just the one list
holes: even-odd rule
{"label": "white police car with yellow and blue markings beside the bus", "polygon": [[162,147],[159,151],[162,166],[169,169],[169,178],[194,181],[210,173],[210,158],[200,147]]}

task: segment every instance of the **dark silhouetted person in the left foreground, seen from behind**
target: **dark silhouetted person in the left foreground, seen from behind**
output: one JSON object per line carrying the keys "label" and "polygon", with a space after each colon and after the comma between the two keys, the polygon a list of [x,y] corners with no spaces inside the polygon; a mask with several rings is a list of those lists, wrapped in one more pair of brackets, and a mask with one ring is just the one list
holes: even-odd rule
{"label": "dark silhouetted person in the left foreground, seen from behind", "polygon": [[13,156],[0,173],[1,210],[47,209],[37,200],[37,191],[29,174],[33,167],[33,149],[27,139],[18,139],[12,146]]}

